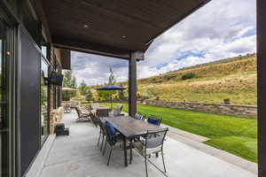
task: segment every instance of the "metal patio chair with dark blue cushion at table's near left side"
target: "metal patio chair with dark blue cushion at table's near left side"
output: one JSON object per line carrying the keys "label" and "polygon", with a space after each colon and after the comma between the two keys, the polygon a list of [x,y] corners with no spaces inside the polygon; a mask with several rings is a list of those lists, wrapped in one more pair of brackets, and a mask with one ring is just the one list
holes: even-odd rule
{"label": "metal patio chair with dark blue cushion at table's near left side", "polygon": [[[108,142],[110,146],[108,162],[107,162],[107,165],[109,165],[110,158],[113,152],[113,147],[117,145],[118,143],[121,144],[121,142],[123,142],[123,138],[120,134],[117,134],[116,129],[113,127],[113,125],[108,120],[106,120],[105,126],[106,126],[106,142]],[[105,145],[105,150],[106,150],[106,145]]]}

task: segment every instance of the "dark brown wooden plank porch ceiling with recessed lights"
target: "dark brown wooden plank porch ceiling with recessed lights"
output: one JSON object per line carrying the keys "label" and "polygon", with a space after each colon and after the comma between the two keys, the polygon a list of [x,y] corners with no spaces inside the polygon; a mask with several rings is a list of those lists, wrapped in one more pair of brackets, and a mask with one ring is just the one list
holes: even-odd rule
{"label": "dark brown wooden plank porch ceiling with recessed lights", "polygon": [[210,0],[43,0],[54,46],[116,58],[153,39]]}

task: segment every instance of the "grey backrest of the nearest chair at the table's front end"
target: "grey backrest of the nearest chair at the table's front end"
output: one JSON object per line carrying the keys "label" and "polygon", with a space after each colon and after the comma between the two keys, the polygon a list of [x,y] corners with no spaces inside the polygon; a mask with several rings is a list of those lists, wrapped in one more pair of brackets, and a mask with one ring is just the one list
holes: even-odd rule
{"label": "grey backrest of the nearest chair at the table's front end", "polygon": [[145,135],[145,150],[151,150],[154,148],[163,148],[163,142],[168,132],[168,127],[160,131],[148,130]]}

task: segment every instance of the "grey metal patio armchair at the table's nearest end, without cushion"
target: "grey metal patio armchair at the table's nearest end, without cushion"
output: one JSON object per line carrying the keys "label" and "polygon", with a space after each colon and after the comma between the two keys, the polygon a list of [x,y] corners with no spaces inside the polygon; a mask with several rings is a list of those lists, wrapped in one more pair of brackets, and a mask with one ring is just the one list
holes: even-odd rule
{"label": "grey metal patio armchair at the table's nearest end, without cushion", "polygon": [[[147,170],[147,161],[149,161],[155,168],[157,168],[161,173],[166,175],[166,166],[163,157],[163,142],[165,141],[165,136],[168,132],[168,127],[164,128],[160,131],[148,130],[145,134],[145,140],[133,142],[133,147],[137,152],[145,158],[145,171],[146,177],[148,177]],[[162,163],[163,163],[163,171],[153,164],[153,162],[147,157],[151,157],[152,154],[156,154],[156,158],[158,158],[158,154],[161,154]]]}

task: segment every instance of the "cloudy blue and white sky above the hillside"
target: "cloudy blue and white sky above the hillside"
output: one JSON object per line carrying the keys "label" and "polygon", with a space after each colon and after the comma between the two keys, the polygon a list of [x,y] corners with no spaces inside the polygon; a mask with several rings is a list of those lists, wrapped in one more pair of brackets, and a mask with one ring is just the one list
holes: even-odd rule
{"label": "cloudy blue and white sky above the hillside", "polygon": [[[137,63],[137,77],[255,52],[255,5],[255,0],[213,0],[153,42],[145,61]],[[116,81],[128,80],[126,60],[74,51],[71,57],[78,83],[105,83],[110,67]]]}

